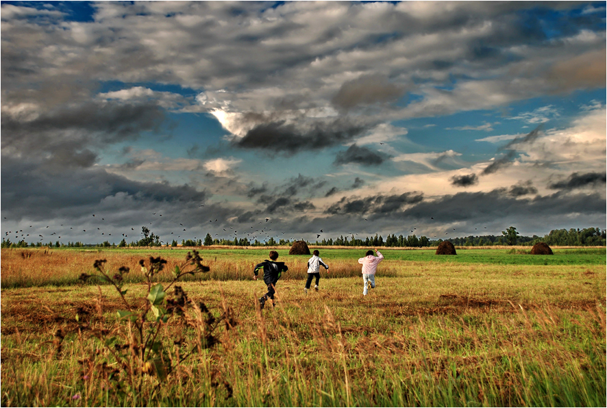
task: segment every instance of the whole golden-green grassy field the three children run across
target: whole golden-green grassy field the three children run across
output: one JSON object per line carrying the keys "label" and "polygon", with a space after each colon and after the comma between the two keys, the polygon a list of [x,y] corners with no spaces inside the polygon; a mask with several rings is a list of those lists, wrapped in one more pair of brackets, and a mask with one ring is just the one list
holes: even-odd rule
{"label": "whole golden-green grassy field the three children run across", "polygon": [[[320,291],[307,295],[308,257],[279,249],[289,271],[276,307],[260,311],[266,288],[251,275],[267,249],[206,249],[210,272],[180,286],[216,324],[195,310],[146,326],[159,327],[172,368],[165,377],[120,367],[115,339],[133,336],[116,318],[121,296],[77,278],[95,273],[96,259],[110,273],[129,266],[125,300],[141,308],[148,286],[139,259],[167,259],[154,277],[166,286],[186,250],[3,249],[1,403],[604,407],[605,248],[553,250],[380,249],[377,288],[363,297],[364,249],[321,248],[331,275],[322,269]],[[216,344],[201,343],[209,338]]]}

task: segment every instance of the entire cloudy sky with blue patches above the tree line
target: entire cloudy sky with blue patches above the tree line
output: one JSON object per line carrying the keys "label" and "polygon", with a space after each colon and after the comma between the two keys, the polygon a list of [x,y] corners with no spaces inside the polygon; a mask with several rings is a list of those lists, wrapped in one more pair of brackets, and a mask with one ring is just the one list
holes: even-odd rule
{"label": "entire cloudy sky with blue patches above the tree line", "polygon": [[0,16],[12,241],[606,227],[604,1],[3,1]]}

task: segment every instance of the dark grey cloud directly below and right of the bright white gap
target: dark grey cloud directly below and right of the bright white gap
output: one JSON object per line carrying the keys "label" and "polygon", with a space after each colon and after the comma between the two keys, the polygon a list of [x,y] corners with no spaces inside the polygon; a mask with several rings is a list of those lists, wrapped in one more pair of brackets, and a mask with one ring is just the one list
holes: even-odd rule
{"label": "dark grey cloud directly below and right of the bright white gap", "polygon": [[262,149],[286,154],[299,151],[317,151],[352,140],[359,136],[367,126],[334,120],[332,123],[318,123],[310,130],[302,131],[295,125],[284,121],[258,125],[236,142],[245,149]]}

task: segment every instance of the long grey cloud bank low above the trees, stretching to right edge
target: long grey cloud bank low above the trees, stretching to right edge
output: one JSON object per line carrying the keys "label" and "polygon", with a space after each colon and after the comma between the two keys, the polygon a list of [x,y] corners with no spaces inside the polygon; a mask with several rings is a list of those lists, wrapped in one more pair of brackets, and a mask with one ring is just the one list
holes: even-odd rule
{"label": "long grey cloud bank low above the trees, stretching to right edge", "polygon": [[[491,231],[492,226],[502,231],[510,225],[515,225],[519,231],[548,233],[552,228],[567,227],[569,214],[584,214],[580,222],[588,222],[589,225],[604,222],[605,199],[599,193],[558,192],[547,196],[524,197],[523,192],[535,194],[535,189],[530,183],[521,182],[507,189],[461,192],[434,201],[422,200],[421,194],[415,196],[415,193],[404,194],[404,199],[398,195],[380,196],[381,198],[343,197],[325,210],[326,218],[310,220],[306,226],[310,226],[311,231],[317,226],[324,227],[325,231],[335,229],[371,234],[376,231],[384,231],[384,234],[408,233],[409,229],[417,226],[418,231],[423,229],[423,234],[430,238],[435,235],[436,238],[448,238],[469,233],[482,235],[483,232]],[[410,202],[404,210],[399,205],[403,201]],[[445,225],[454,223],[458,226],[457,231],[451,227],[444,229]],[[490,229],[485,229],[486,226]],[[433,228],[437,228],[436,231],[433,232]]]}

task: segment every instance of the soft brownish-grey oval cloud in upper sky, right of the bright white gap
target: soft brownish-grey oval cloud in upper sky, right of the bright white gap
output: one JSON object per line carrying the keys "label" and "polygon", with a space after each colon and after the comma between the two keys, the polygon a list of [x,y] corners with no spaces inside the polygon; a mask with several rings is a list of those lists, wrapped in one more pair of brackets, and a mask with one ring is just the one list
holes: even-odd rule
{"label": "soft brownish-grey oval cloud in upper sky, right of the bright white gap", "polygon": [[331,102],[338,108],[348,110],[358,105],[394,102],[405,92],[404,86],[392,84],[381,75],[364,75],[345,82]]}

